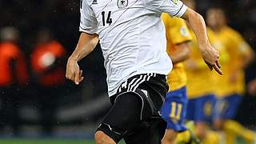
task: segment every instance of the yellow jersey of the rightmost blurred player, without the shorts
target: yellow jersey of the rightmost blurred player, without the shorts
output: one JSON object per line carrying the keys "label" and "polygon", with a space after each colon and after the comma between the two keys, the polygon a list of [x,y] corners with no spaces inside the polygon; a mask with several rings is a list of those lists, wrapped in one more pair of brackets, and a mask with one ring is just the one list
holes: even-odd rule
{"label": "yellow jersey of the rightmost blurred player, without the shorts", "polygon": [[[253,50],[247,44],[236,30],[226,26],[219,32],[215,33],[226,47],[230,54],[230,61],[223,65],[223,77],[219,79],[218,83],[223,83],[222,87],[218,88],[218,96],[225,97],[230,94],[243,94],[245,91],[245,73],[241,69],[243,55],[251,53]],[[236,82],[232,82],[230,75],[238,70],[238,77]]]}

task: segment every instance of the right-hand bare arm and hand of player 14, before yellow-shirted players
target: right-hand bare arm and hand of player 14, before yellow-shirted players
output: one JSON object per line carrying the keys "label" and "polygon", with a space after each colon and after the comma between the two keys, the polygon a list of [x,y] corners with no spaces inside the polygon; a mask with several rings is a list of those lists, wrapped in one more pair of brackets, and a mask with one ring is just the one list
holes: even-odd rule
{"label": "right-hand bare arm and hand of player 14, before yellow-shirted players", "polygon": [[206,33],[206,23],[202,16],[194,10],[187,8],[185,14],[182,15],[182,18],[186,20],[190,28],[194,31],[194,34],[198,39],[199,49],[202,52],[202,58],[209,66],[210,70],[214,69],[218,74],[223,74],[218,62],[218,50],[215,50],[214,47],[210,45]]}

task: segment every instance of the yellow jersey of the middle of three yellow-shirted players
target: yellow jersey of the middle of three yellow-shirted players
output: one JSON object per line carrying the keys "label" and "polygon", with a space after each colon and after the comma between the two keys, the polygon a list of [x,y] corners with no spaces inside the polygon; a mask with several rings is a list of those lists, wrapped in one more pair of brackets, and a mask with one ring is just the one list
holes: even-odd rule
{"label": "yellow jersey of the middle of three yellow-shirted players", "polygon": [[[217,78],[215,78],[216,73],[214,70],[210,71],[203,61],[194,33],[191,30],[190,33],[193,36],[193,41],[191,42],[190,59],[186,61],[187,94],[188,98],[199,98],[207,94],[214,94]],[[211,45],[221,53],[220,61],[226,62],[229,57],[226,54],[222,54],[225,51],[225,47],[210,28],[207,28],[207,34]]]}

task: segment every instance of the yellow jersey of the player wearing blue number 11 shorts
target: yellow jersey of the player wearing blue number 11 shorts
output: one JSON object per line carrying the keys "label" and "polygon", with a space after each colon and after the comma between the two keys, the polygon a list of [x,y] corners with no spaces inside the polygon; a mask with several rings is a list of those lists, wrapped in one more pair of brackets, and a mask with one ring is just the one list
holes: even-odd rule
{"label": "yellow jersey of the player wearing blue number 11 shorts", "polygon": [[[175,45],[190,41],[191,35],[182,18],[171,18],[168,14],[162,14],[162,20],[166,26],[167,53],[171,55],[177,47]],[[178,90],[186,86],[186,71],[183,63],[174,64],[173,70],[167,76],[167,83],[170,90]]]}

